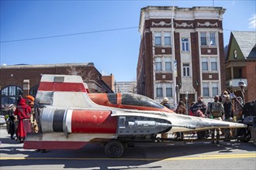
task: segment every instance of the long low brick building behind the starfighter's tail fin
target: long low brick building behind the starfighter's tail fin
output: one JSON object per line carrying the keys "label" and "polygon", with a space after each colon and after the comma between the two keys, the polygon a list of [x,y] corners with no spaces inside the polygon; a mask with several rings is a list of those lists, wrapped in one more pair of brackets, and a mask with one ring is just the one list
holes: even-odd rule
{"label": "long low brick building behind the starfighter's tail fin", "polygon": [[93,63],[1,66],[1,106],[16,104],[19,95],[36,96],[42,74],[79,75],[88,84],[91,93],[113,93]]}

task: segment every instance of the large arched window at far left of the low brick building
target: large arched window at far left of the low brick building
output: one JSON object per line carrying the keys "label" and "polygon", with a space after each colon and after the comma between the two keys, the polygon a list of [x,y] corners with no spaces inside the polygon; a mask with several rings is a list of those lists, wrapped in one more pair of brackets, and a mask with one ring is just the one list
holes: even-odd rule
{"label": "large arched window at far left of the low brick building", "polygon": [[20,87],[9,86],[1,90],[1,106],[5,104],[17,104],[18,97],[23,94]]}

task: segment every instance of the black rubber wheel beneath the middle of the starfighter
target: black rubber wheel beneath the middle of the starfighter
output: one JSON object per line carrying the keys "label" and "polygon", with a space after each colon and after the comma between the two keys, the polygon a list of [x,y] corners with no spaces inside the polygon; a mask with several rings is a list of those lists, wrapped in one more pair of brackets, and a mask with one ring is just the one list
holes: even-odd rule
{"label": "black rubber wheel beneath the middle of the starfighter", "polygon": [[108,141],[105,146],[105,154],[110,158],[120,158],[123,155],[123,144],[120,141]]}

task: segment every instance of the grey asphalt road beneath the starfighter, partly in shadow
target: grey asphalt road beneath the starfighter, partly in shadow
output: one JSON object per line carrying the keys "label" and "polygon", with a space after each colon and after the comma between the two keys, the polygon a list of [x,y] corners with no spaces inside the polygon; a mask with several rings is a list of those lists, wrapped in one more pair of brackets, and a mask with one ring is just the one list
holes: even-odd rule
{"label": "grey asphalt road beneath the starfighter, partly in shadow", "polygon": [[256,169],[252,142],[178,142],[125,148],[122,158],[108,158],[102,145],[47,153],[25,150],[0,128],[0,169]]}

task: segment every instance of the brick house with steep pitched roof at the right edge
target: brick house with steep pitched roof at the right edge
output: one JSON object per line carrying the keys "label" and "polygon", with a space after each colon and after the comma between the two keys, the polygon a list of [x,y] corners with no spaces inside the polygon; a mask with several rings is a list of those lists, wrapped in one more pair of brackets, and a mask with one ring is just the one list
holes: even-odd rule
{"label": "brick house with steep pitched roof at the right edge", "polygon": [[256,32],[234,31],[226,56],[226,86],[243,97],[239,82],[244,82],[244,100],[256,99]]}

